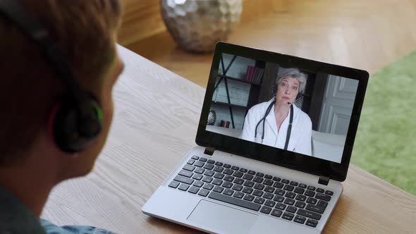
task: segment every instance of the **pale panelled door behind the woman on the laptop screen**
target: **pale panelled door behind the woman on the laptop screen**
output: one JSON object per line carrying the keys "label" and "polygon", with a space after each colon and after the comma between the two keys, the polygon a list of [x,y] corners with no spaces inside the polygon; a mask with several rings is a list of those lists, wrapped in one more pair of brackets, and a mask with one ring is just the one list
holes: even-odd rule
{"label": "pale panelled door behind the woman on the laptop screen", "polygon": [[328,76],[318,130],[321,133],[347,135],[358,80]]}

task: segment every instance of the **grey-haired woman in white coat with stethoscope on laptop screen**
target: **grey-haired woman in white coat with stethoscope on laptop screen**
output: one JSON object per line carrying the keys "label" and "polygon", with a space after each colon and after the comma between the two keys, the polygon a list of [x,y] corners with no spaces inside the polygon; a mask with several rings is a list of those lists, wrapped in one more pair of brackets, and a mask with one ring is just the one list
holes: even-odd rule
{"label": "grey-haired woman in white coat with stethoscope on laptop screen", "polygon": [[312,155],[312,122],[294,105],[305,85],[306,75],[298,68],[279,68],[272,88],[274,97],[250,108],[240,138]]}

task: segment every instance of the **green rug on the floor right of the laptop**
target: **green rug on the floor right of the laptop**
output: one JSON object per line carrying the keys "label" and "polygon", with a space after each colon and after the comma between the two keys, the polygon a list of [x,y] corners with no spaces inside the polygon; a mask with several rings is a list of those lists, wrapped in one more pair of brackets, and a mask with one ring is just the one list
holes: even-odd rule
{"label": "green rug on the floor right of the laptop", "polygon": [[416,51],[369,79],[351,162],[416,195]]}

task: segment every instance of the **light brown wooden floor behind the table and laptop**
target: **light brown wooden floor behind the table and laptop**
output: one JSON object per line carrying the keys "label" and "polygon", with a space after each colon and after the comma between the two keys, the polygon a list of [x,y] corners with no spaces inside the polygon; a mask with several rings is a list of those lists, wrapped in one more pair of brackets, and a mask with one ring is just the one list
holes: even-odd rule
{"label": "light brown wooden floor behind the table and laptop", "polygon": [[[297,0],[241,23],[227,42],[369,73],[416,49],[416,0]],[[212,54],[178,48],[168,32],[124,45],[205,87]]]}

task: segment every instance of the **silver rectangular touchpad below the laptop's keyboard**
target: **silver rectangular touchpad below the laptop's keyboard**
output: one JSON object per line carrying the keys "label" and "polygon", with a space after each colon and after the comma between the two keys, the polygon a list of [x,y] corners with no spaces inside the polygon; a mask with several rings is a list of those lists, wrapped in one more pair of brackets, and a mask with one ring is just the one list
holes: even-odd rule
{"label": "silver rectangular touchpad below the laptop's keyboard", "polygon": [[200,223],[226,233],[248,233],[256,220],[257,214],[206,200],[201,200],[188,217],[195,226]]}

